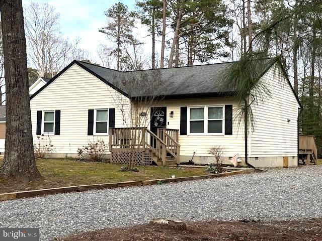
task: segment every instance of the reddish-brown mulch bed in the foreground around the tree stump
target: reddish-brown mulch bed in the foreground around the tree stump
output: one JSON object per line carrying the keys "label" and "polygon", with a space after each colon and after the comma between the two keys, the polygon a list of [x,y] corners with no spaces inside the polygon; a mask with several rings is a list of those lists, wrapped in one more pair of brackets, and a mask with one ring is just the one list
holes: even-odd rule
{"label": "reddish-brown mulch bed in the foreground around the tree stump", "polygon": [[75,234],[72,240],[158,240],[158,241],[258,241],[258,240],[322,240],[322,219],[300,221],[210,221],[187,223],[186,230],[167,229],[158,225],[137,225]]}

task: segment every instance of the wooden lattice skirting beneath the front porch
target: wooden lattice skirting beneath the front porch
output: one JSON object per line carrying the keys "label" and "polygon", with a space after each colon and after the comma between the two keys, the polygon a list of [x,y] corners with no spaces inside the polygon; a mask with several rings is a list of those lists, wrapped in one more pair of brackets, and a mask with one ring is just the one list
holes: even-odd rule
{"label": "wooden lattice skirting beneath the front porch", "polygon": [[[135,155],[133,153],[130,153],[129,151],[126,150],[117,150],[117,151],[112,151],[111,153],[111,163],[121,163],[121,164],[126,164],[127,160],[129,160],[130,154]],[[140,151],[137,154],[137,159],[136,159],[136,165],[151,165],[153,160],[152,160],[152,153],[148,152],[143,152]]]}

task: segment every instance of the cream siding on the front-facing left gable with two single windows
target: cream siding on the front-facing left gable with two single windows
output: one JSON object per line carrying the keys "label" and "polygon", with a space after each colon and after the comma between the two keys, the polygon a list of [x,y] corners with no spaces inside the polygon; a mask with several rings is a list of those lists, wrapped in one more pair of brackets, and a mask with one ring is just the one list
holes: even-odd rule
{"label": "cream siding on the front-facing left gable with two single windows", "polygon": [[115,108],[115,127],[122,128],[122,101],[128,108],[129,99],[78,65],[72,65],[30,101],[34,142],[37,140],[37,110],[59,109],[60,135],[51,136],[54,153],[76,154],[77,148],[89,141],[103,139],[108,145],[108,134],[88,136],[88,110]]}

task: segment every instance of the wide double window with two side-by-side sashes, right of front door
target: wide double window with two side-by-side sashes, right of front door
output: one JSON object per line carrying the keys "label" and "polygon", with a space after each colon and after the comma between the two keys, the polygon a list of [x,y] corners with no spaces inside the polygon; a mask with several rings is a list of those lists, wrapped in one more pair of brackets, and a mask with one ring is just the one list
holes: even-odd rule
{"label": "wide double window with two side-by-side sashes, right of front door", "polygon": [[189,134],[223,135],[223,105],[191,106],[188,109]]}

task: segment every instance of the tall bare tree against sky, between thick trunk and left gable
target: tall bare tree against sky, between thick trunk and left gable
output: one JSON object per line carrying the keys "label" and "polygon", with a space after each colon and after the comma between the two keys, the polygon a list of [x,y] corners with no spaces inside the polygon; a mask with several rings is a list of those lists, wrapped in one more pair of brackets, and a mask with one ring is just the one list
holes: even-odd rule
{"label": "tall bare tree against sky, between thick trunk and left gable", "polygon": [[89,59],[88,52],[78,48],[79,38],[73,42],[63,38],[59,20],[59,14],[49,4],[25,6],[29,62],[39,76],[51,78],[73,59]]}

